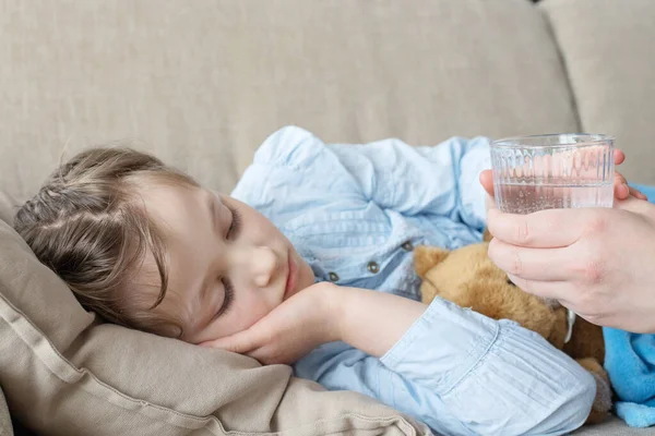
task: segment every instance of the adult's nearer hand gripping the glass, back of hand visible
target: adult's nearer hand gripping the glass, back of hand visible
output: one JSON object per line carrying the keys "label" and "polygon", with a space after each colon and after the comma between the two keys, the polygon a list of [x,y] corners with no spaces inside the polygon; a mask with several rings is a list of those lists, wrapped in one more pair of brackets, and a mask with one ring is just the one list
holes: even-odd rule
{"label": "adult's nearer hand gripping the glass, back of hand visible", "polygon": [[559,300],[591,323],[655,332],[655,205],[489,210],[490,258],[526,292]]}

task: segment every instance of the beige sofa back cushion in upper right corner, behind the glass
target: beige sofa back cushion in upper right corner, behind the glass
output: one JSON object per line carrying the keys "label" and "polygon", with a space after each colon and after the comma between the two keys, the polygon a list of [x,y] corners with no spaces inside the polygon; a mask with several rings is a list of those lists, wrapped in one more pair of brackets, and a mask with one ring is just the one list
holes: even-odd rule
{"label": "beige sofa back cushion in upper right corner, behind the glass", "polygon": [[564,59],[582,129],[616,135],[629,180],[655,184],[655,2],[541,2]]}

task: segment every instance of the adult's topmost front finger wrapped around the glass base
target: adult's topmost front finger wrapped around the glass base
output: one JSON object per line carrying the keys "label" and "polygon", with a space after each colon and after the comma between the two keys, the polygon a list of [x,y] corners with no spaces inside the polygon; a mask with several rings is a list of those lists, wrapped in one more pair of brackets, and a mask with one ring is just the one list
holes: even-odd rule
{"label": "adult's topmost front finger wrapped around the glass base", "polygon": [[505,243],[534,249],[557,249],[573,244],[590,220],[596,222],[603,209],[547,209],[534,214],[503,214],[490,209],[487,226]]}

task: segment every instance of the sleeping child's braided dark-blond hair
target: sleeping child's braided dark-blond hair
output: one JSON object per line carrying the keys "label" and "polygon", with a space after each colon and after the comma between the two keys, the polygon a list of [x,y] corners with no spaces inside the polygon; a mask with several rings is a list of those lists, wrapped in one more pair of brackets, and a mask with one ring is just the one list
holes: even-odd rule
{"label": "sleeping child's braided dark-blond hair", "polygon": [[[139,195],[139,185],[148,178],[198,185],[151,155],[93,148],[57,169],[17,210],[14,227],[86,310],[111,323],[180,337],[180,319],[153,311],[166,295],[168,274],[163,234]],[[157,266],[159,293],[154,304],[134,307],[128,304],[133,301],[127,295],[129,280],[148,252]]]}

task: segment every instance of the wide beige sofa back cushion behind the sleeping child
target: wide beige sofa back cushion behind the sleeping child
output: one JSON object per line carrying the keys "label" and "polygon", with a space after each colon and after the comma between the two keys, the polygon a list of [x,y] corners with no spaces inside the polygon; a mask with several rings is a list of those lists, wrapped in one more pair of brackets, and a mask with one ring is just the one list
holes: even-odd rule
{"label": "wide beige sofa back cushion behind the sleeping child", "polygon": [[139,140],[230,191],[295,124],[327,142],[577,130],[525,0],[0,0],[0,186],[33,194],[81,148]]}

